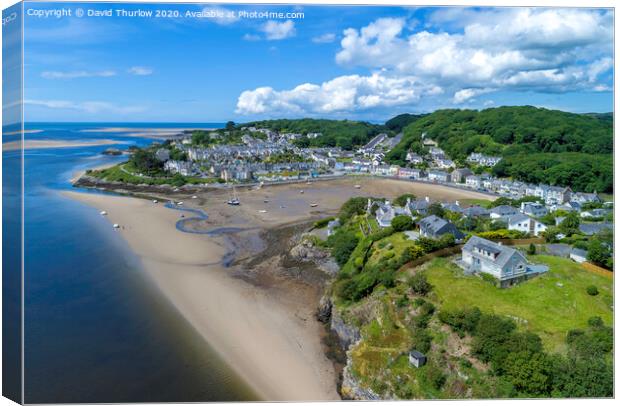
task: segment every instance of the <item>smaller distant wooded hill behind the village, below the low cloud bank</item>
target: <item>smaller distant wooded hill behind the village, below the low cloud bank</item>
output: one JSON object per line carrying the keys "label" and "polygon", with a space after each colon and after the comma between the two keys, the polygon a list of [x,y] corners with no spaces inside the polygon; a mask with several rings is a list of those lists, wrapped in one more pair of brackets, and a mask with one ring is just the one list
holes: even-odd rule
{"label": "smaller distant wooded hill behind the village, below the low cloud bank", "polygon": [[372,137],[384,130],[383,126],[361,121],[349,120],[315,120],[304,118],[299,120],[266,120],[244,124],[257,128],[268,128],[280,133],[292,132],[306,135],[321,133],[317,138],[304,137],[296,140],[299,147],[342,147],[352,149],[354,146],[366,144]]}

